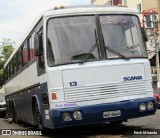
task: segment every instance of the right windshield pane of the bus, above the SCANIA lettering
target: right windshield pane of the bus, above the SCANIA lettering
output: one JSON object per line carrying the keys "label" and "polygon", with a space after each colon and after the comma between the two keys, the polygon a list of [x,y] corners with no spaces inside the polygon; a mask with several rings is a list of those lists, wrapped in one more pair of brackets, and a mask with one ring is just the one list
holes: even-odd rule
{"label": "right windshield pane of the bus, above the SCANIA lettering", "polygon": [[[103,15],[100,24],[105,46],[126,57],[146,57],[139,21],[133,15]],[[121,58],[109,51],[107,58]]]}

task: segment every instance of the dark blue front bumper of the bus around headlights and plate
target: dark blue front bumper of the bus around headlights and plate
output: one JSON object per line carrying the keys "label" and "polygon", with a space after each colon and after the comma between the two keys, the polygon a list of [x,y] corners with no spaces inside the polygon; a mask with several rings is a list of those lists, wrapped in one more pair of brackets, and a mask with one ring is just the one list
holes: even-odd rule
{"label": "dark blue front bumper of the bus around headlights and plate", "polygon": [[[154,108],[146,111],[139,111],[140,103],[153,102]],[[64,112],[70,112],[71,114],[74,111],[81,111],[83,115],[82,120],[75,120],[72,117],[71,121],[64,122],[62,114]],[[103,118],[103,112],[106,111],[114,111],[121,110],[121,116],[119,117],[111,117],[111,118]],[[115,103],[107,103],[107,104],[99,104],[99,105],[91,105],[91,106],[83,106],[83,107],[74,107],[67,109],[52,109],[50,110],[50,117],[53,121],[53,128],[59,127],[67,127],[74,125],[85,125],[85,124],[95,124],[95,123],[105,123],[112,121],[120,121],[127,120],[131,118],[143,117],[148,115],[155,114],[156,111],[156,103],[154,98],[144,98],[137,100],[128,100],[121,101]]]}

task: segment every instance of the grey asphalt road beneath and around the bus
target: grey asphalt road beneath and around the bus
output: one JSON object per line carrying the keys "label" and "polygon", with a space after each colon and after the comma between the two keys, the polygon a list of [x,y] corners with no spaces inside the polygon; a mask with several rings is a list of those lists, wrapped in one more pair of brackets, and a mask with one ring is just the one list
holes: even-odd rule
{"label": "grey asphalt road beneath and around the bus", "polygon": [[[26,124],[14,124],[9,123],[4,118],[0,118],[0,129],[20,129],[24,131],[35,131],[32,126]],[[38,136],[18,136],[24,138],[159,138],[160,137],[160,110],[157,110],[155,115],[131,119],[128,122],[124,122],[120,126],[111,126],[109,124],[103,125],[87,125],[78,126],[58,130],[45,130],[41,132],[43,135]],[[138,134],[134,134],[138,133]],[[144,135],[141,133],[151,133]],[[156,133],[159,133],[156,134]],[[8,138],[8,136],[0,136],[2,138]],[[16,136],[10,136],[11,138],[17,138]]]}

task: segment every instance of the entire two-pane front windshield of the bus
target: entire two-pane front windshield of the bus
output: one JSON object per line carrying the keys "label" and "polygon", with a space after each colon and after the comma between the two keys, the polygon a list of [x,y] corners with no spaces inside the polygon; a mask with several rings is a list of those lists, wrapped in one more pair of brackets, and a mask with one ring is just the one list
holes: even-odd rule
{"label": "entire two-pane front windshield of the bus", "polygon": [[[99,27],[96,19],[99,20]],[[102,34],[95,33],[98,29]],[[87,61],[99,60],[102,55],[100,48],[103,47],[110,47],[129,58],[146,57],[137,16],[99,15],[99,19],[94,15],[59,17],[48,21],[48,65],[81,61],[96,43],[97,35],[103,36],[104,46],[98,45],[87,57]],[[107,49],[106,55],[107,58],[123,58]]]}

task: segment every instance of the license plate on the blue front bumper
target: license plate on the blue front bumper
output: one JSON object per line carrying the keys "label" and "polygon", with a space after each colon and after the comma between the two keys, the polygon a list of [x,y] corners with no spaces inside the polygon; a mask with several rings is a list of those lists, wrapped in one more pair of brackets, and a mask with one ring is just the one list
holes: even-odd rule
{"label": "license plate on the blue front bumper", "polygon": [[103,118],[118,117],[118,116],[121,116],[121,110],[103,112]]}

